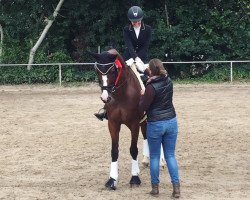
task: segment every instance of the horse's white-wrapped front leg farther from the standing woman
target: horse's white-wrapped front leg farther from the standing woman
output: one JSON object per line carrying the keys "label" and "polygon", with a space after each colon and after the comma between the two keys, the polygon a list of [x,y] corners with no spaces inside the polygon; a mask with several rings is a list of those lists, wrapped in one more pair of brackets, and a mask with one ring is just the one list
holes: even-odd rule
{"label": "horse's white-wrapped front leg farther from the standing woman", "polygon": [[112,139],[110,175],[105,187],[110,190],[117,188],[118,181],[118,156],[119,156],[119,132],[121,125],[109,122],[109,131]]}

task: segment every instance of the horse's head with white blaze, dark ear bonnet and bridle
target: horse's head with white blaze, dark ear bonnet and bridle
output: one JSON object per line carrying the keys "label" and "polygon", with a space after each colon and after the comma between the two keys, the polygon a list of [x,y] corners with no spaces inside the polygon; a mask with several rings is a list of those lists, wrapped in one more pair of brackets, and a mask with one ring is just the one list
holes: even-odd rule
{"label": "horse's head with white blaze, dark ear bonnet and bridle", "polygon": [[109,50],[101,54],[92,53],[92,56],[96,59],[95,69],[102,89],[101,100],[108,103],[111,100],[111,93],[115,90],[117,77],[121,70],[121,66],[118,66],[120,62],[117,61],[118,52]]}

